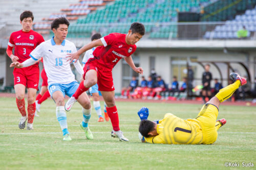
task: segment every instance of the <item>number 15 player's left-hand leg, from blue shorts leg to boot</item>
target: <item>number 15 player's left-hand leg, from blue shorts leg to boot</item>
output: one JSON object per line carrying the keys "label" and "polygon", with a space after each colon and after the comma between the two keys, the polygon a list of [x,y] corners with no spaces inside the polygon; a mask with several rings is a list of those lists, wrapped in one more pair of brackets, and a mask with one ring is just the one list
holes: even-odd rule
{"label": "number 15 player's left-hand leg, from blue shorts leg to boot", "polygon": [[65,101],[64,96],[65,92],[63,88],[58,84],[52,84],[49,86],[49,91],[56,104],[56,117],[59,122],[60,128],[63,133],[63,140],[70,141],[72,140],[68,131],[68,123],[67,123],[67,114],[65,111]]}

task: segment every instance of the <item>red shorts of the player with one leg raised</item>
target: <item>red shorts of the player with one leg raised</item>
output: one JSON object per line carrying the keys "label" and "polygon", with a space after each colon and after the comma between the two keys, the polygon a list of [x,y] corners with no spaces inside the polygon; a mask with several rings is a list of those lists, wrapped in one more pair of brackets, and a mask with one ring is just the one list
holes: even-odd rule
{"label": "red shorts of the player with one leg raised", "polygon": [[97,60],[93,60],[91,62],[87,62],[86,65],[83,67],[83,79],[86,76],[86,72],[90,69],[94,69],[97,71],[98,77],[98,90],[99,91],[114,91],[114,83],[112,77],[112,68],[108,68],[105,65],[102,65],[97,62]]}

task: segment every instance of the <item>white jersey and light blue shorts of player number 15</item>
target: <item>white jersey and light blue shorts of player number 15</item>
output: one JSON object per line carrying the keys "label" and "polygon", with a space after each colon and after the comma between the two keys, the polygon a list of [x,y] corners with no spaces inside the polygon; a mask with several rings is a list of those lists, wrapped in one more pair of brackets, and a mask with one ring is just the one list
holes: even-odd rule
{"label": "white jersey and light blue shorts of player number 15", "polygon": [[68,40],[63,40],[61,45],[56,45],[53,38],[38,45],[30,53],[30,57],[38,60],[43,56],[51,96],[54,91],[62,91],[64,96],[65,93],[70,96],[76,91],[79,84],[75,80],[69,59],[66,57],[68,53],[77,51],[76,46]]}

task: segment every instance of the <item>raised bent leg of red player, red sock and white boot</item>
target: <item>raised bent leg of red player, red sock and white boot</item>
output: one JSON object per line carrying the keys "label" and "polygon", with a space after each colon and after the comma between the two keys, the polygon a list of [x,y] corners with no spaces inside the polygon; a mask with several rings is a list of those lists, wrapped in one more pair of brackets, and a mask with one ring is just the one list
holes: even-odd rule
{"label": "raised bent leg of red player, red sock and white boot", "polygon": [[79,87],[76,92],[72,95],[72,97],[66,102],[65,109],[70,111],[79,95],[81,95],[84,91],[87,91],[90,87],[97,83],[97,71],[95,69],[90,69],[84,75],[84,80],[81,81]]}

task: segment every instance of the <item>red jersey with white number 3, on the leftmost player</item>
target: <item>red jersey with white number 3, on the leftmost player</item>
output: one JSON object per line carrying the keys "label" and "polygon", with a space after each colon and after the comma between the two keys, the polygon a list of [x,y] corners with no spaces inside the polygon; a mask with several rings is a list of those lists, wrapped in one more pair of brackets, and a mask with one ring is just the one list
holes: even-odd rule
{"label": "red jersey with white number 3, on the leftmost player", "polygon": [[11,47],[15,46],[14,55],[19,58],[18,62],[21,63],[29,59],[29,54],[37,45],[44,41],[44,38],[33,30],[29,32],[20,30],[11,34],[8,45]]}

